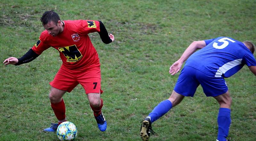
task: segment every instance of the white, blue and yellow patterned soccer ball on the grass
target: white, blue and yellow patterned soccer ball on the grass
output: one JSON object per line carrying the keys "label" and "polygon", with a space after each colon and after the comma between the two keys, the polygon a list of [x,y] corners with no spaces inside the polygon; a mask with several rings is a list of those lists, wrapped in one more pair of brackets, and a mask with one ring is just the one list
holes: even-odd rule
{"label": "white, blue and yellow patterned soccer ball on the grass", "polygon": [[60,125],[57,128],[57,136],[59,137],[60,140],[70,141],[75,139],[76,135],[77,135],[76,125],[69,121],[60,123]]}

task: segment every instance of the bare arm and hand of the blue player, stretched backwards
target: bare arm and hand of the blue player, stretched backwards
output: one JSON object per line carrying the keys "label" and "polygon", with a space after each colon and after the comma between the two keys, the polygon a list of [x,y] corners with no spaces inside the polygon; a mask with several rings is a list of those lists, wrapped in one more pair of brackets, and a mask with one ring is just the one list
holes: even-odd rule
{"label": "bare arm and hand of the blue player, stretched backwards", "polygon": [[192,42],[188,46],[188,48],[184,51],[184,53],[181,55],[180,59],[172,64],[172,66],[169,69],[169,74],[174,75],[174,74],[178,73],[180,71],[181,66],[184,63],[184,61],[186,61],[188,59],[188,57],[191,54],[193,54],[197,49],[201,49],[204,46],[206,46],[206,43],[204,40]]}

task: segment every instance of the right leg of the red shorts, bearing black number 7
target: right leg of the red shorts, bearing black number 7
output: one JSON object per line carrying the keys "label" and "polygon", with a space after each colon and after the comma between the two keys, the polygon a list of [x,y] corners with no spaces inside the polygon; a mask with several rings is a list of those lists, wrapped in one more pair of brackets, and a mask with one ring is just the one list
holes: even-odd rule
{"label": "right leg of the red shorts, bearing black number 7", "polygon": [[81,84],[86,94],[102,93],[100,68],[96,67],[83,71],[77,76],[77,81]]}

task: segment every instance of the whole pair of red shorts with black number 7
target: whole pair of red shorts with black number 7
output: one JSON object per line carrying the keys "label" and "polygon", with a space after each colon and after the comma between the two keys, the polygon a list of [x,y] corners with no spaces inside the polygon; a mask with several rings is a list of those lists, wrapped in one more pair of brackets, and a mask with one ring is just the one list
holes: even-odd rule
{"label": "whole pair of red shorts with black number 7", "polygon": [[53,81],[49,84],[57,89],[71,92],[77,84],[84,87],[85,93],[100,93],[100,67],[94,67],[89,70],[70,70],[61,66]]}

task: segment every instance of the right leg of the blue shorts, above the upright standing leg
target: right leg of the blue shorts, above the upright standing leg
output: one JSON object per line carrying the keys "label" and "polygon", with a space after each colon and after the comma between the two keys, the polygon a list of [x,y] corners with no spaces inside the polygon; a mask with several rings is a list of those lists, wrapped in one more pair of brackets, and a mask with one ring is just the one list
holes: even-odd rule
{"label": "right leg of the blue shorts, above the upright standing leg", "polygon": [[198,72],[196,77],[200,82],[206,96],[214,97],[228,91],[228,86],[226,85],[223,77],[209,76],[203,72]]}

